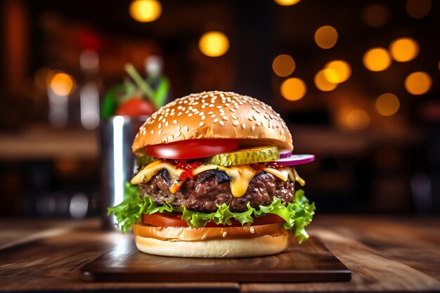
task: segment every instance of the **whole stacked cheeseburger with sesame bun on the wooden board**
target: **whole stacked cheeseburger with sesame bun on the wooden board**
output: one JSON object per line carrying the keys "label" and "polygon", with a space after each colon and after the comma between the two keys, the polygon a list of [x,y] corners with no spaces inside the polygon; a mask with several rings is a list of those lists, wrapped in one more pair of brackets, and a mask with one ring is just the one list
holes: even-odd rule
{"label": "whole stacked cheeseburger with sesame bun on the wooden board", "polygon": [[238,93],[178,98],[141,126],[132,150],[138,167],[124,201],[108,209],[136,247],[181,257],[278,254],[304,229],[309,203],[292,155],[292,136],[271,106]]}

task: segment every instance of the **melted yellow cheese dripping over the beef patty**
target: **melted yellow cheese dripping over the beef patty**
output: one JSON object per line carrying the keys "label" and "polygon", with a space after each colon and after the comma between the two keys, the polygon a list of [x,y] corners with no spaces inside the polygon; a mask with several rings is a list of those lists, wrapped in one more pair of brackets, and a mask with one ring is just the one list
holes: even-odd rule
{"label": "melted yellow cheese dripping over the beef patty", "polygon": [[[141,171],[131,179],[131,184],[147,183],[150,179],[160,170],[167,169],[169,175],[172,177],[173,185],[169,188],[172,193],[176,193],[179,190],[180,185],[183,182],[180,179],[183,173],[182,169],[177,169],[173,164],[167,162],[162,162],[157,159],[145,166]],[[219,169],[224,171],[231,177],[231,193],[234,197],[242,197],[247,190],[247,186],[254,176],[258,174],[257,171],[252,169],[249,165],[236,165],[231,167],[224,167],[214,164],[201,164],[199,167],[195,168],[193,171],[193,176],[200,174],[204,171]],[[282,167],[280,170],[273,168],[264,168],[266,171],[273,176],[280,178],[283,181],[287,181],[290,178],[291,181],[297,181],[300,185],[304,186],[305,181],[299,177],[297,171],[293,167]]]}

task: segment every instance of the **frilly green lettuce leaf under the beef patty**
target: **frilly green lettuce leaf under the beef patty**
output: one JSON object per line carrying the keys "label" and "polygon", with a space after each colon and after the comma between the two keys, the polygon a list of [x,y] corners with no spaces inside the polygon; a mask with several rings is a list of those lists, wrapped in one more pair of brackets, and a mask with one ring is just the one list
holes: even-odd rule
{"label": "frilly green lettuce leaf under the beef patty", "polygon": [[267,207],[259,206],[258,209],[254,209],[247,203],[247,211],[233,212],[228,205],[217,204],[218,209],[212,213],[190,211],[186,207],[174,207],[168,202],[155,204],[150,197],[141,197],[138,186],[128,182],[125,184],[124,194],[124,200],[120,204],[108,208],[108,215],[115,214],[117,226],[123,233],[140,221],[142,214],[163,213],[164,211],[181,212],[181,219],[186,221],[190,227],[204,227],[209,221],[231,225],[231,219],[239,221],[242,226],[250,226],[253,217],[276,214],[284,219],[284,228],[292,230],[298,242],[302,242],[309,238],[305,227],[311,222],[316,209],[314,203],[309,204],[304,190],[301,189],[295,193],[294,201],[288,204],[278,197],[273,197],[273,201]]}

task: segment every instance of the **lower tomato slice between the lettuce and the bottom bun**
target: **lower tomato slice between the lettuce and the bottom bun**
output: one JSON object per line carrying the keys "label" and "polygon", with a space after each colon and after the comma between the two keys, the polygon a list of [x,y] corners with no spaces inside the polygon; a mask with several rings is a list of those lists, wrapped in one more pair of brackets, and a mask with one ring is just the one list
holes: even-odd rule
{"label": "lower tomato slice between the lettuce and the bottom bun", "polygon": [[[186,221],[181,220],[181,214],[176,214],[175,216],[169,216],[164,214],[143,214],[142,223],[150,224],[153,226],[160,227],[188,227]],[[208,228],[215,227],[241,227],[241,223],[235,219],[231,219],[232,225],[217,225],[214,222],[207,223]],[[254,218],[252,226],[267,225],[272,223],[284,223],[283,218],[277,216],[276,214],[266,214],[266,216],[259,216]]]}

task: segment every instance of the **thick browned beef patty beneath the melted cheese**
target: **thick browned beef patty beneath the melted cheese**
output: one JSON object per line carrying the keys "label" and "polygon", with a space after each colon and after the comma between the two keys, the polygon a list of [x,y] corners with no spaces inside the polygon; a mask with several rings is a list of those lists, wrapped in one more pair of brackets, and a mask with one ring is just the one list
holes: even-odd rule
{"label": "thick browned beef patty beneath the melted cheese", "polygon": [[231,178],[219,170],[203,171],[186,179],[176,193],[169,187],[172,178],[167,169],[157,172],[148,183],[141,183],[141,196],[149,196],[153,202],[164,204],[169,202],[176,207],[185,206],[192,211],[216,211],[216,204],[228,204],[231,211],[247,211],[247,202],[251,207],[268,206],[273,197],[283,202],[292,202],[295,194],[295,183],[290,179],[283,181],[270,173],[261,171],[249,183],[245,195],[234,197],[231,193]]}

